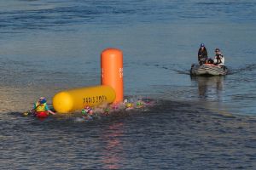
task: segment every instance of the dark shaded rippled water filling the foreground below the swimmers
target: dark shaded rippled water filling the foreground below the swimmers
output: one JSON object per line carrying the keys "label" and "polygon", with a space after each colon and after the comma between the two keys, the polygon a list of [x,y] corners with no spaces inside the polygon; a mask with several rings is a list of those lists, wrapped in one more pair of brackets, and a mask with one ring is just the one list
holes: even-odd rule
{"label": "dark shaded rippled water filling the foreground below the swimmers", "polygon": [[76,117],[79,114],[40,121],[10,113],[8,120],[0,121],[2,151],[14,157],[3,165],[40,169],[40,162],[44,168],[65,168],[75,161],[73,168],[89,169],[234,169],[252,168],[256,160],[256,120],[249,116],[224,116],[189,102],[155,99],[155,105],[143,111],[117,112],[92,122],[78,123]]}

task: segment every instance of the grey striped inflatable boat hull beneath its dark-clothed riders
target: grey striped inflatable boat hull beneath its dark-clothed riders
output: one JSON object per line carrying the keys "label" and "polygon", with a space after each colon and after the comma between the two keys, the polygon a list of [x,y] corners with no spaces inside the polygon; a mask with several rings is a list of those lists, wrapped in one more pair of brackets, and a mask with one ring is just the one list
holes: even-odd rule
{"label": "grey striped inflatable boat hull beneath its dark-clothed riders", "polygon": [[192,76],[223,76],[228,73],[228,69],[224,65],[213,65],[213,64],[203,64],[203,65],[191,65],[190,75]]}

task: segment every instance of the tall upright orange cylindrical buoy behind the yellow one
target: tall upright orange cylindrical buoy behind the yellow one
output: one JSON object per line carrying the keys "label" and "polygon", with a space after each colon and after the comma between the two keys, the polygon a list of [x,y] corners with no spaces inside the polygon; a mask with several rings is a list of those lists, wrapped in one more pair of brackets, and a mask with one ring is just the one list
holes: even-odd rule
{"label": "tall upright orange cylindrical buoy behind the yellow one", "polygon": [[102,51],[102,85],[108,85],[115,91],[113,103],[119,103],[124,98],[123,85],[123,53],[116,48],[107,48]]}

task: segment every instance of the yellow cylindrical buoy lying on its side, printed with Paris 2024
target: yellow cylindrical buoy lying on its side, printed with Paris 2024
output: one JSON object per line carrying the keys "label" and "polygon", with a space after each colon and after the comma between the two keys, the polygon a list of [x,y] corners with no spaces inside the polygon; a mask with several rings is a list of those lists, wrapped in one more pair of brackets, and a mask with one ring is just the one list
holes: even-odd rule
{"label": "yellow cylindrical buoy lying on its side, printed with Paris 2024", "polygon": [[101,103],[112,103],[115,91],[110,86],[94,86],[74,88],[55,94],[53,107],[58,113],[68,113],[84,109],[85,106],[95,106]]}

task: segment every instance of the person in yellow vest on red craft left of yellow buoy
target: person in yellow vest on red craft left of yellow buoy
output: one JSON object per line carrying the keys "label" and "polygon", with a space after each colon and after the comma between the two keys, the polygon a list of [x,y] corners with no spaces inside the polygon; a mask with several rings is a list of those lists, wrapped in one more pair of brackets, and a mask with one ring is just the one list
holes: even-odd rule
{"label": "person in yellow vest on red craft left of yellow buoy", "polygon": [[55,112],[50,111],[49,107],[47,105],[47,101],[44,97],[40,97],[38,101],[34,104],[34,115],[40,115],[40,116],[48,116],[49,113],[52,115],[55,115]]}

